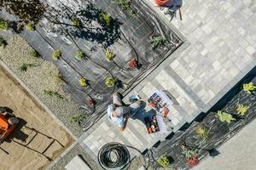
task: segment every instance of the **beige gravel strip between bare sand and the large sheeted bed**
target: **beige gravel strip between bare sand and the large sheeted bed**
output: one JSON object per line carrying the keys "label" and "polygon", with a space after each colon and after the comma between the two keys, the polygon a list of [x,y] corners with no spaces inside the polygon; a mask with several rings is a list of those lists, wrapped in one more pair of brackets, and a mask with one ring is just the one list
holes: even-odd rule
{"label": "beige gravel strip between bare sand and the large sheeted bed", "polygon": [[[11,37],[5,48],[0,48],[0,59],[26,83],[32,92],[38,95],[45,105],[63,122],[71,132],[79,136],[82,129],[78,124],[70,122],[71,116],[81,114],[71,96],[63,91],[62,82],[56,81],[59,74],[54,64],[41,58],[32,57],[32,48],[20,36]],[[20,71],[23,64],[32,64],[26,71]],[[44,90],[55,91],[63,99],[44,94]]]}

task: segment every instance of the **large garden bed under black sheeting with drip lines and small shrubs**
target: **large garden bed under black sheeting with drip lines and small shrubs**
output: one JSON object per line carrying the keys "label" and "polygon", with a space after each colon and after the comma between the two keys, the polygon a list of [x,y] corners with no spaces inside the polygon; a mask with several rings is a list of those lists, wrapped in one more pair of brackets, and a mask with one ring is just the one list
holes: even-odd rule
{"label": "large garden bed under black sheeting with drip lines and small shrubs", "polygon": [[126,94],[182,43],[143,1],[44,3],[49,8],[37,25],[26,23],[20,35],[55,63],[65,89],[83,109],[78,116],[86,117],[79,121],[85,129],[102,116],[113,92]]}

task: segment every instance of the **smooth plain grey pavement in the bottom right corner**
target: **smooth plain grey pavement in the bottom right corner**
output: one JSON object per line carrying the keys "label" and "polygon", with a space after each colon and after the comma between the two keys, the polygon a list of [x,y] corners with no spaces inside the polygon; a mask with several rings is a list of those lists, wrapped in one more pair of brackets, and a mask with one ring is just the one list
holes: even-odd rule
{"label": "smooth plain grey pavement in the bottom right corner", "polygon": [[207,157],[193,170],[241,170],[256,168],[256,121],[218,148],[217,157]]}

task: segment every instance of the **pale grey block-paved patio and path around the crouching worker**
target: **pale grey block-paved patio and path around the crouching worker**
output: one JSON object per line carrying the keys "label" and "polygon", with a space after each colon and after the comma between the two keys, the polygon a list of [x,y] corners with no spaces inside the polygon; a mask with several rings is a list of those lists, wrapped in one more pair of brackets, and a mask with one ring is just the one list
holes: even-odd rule
{"label": "pale grey block-paved patio and path around the crouching worker", "polygon": [[[146,100],[155,89],[168,90],[179,103],[170,108],[177,130],[201,111],[208,111],[256,65],[256,14],[251,8],[255,2],[186,0],[183,20],[177,17],[172,22],[165,14],[166,8],[155,7],[153,0],[143,2],[187,41],[130,94],[139,94]],[[96,156],[97,150],[110,141],[143,151],[166,135],[149,136],[137,120],[129,122],[125,133],[119,133],[103,116],[84,134],[81,144]]]}

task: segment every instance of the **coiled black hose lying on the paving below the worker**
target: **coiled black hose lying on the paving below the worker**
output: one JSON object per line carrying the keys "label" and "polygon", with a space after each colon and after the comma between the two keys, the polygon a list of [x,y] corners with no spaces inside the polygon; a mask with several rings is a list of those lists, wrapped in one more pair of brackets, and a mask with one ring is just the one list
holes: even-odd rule
{"label": "coiled black hose lying on the paving below the worker", "polygon": [[102,146],[98,161],[103,169],[124,169],[131,161],[131,156],[124,144],[112,142]]}

